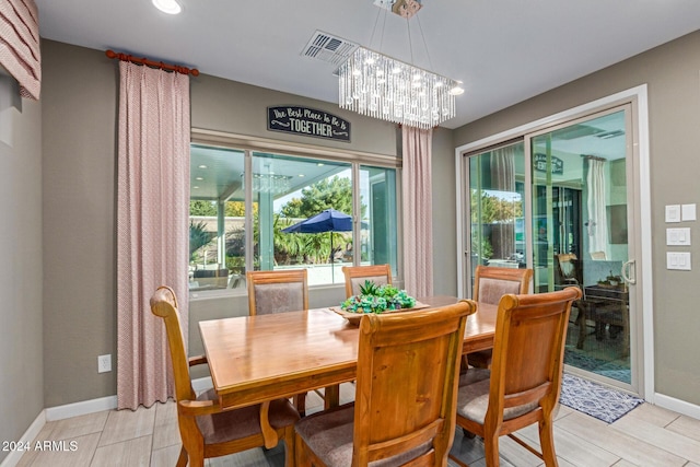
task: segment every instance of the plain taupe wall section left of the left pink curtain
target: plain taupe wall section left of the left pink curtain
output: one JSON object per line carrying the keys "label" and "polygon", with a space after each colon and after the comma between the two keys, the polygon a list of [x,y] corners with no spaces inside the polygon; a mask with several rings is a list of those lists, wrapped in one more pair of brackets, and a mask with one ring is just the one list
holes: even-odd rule
{"label": "plain taupe wall section left of the left pink curtain", "polygon": [[117,71],[103,54],[42,43],[45,406],[116,393]]}

